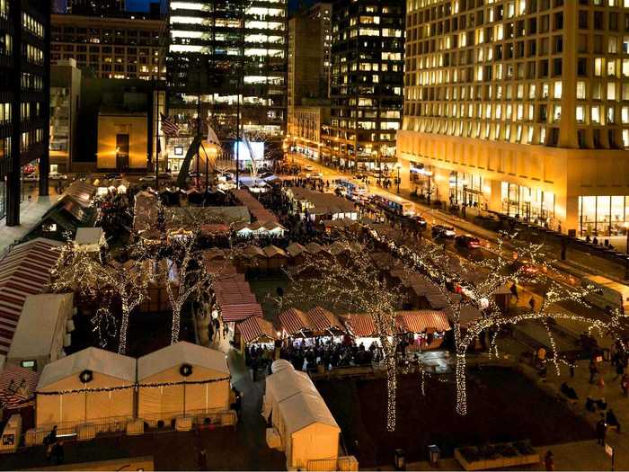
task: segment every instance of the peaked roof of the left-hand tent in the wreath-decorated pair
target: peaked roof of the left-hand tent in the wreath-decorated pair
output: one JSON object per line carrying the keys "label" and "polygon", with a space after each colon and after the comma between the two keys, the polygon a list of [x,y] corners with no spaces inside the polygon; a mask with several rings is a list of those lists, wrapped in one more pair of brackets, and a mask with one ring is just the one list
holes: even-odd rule
{"label": "peaked roof of the left-hand tent in the wreath-decorated pair", "polygon": [[84,370],[93,370],[129,383],[136,380],[135,359],[96,347],[88,347],[47,364],[41,372],[37,389],[49,387],[63,378],[78,376]]}

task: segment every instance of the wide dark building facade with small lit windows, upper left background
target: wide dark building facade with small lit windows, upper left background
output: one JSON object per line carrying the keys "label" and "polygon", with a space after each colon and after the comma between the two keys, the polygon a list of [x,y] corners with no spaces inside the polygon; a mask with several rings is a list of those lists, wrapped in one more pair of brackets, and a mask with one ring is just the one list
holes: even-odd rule
{"label": "wide dark building facade with small lit windows, upper left background", "polygon": [[166,78],[166,23],[142,15],[52,15],[52,64],[75,59],[98,78]]}

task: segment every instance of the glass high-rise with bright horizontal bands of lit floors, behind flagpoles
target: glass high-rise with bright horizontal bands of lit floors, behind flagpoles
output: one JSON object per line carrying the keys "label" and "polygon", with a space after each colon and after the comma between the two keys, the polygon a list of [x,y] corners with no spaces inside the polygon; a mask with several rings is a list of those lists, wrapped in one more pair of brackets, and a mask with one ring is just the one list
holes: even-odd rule
{"label": "glass high-rise with bright horizontal bands of lit floors, behind flagpoles", "polygon": [[263,142],[264,156],[281,155],[287,10],[287,0],[171,2],[168,112],[180,127],[165,147],[172,170],[182,164],[198,122],[202,133],[207,122],[213,125],[224,156],[235,154],[236,129]]}

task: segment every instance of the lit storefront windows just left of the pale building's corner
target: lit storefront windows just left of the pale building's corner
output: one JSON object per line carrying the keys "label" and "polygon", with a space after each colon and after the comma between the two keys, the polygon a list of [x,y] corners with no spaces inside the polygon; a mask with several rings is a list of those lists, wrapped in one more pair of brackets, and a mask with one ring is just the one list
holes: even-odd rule
{"label": "lit storefront windows just left of the pale building's corner", "polygon": [[552,226],[555,196],[552,191],[501,183],[502,213],[539,226]]}

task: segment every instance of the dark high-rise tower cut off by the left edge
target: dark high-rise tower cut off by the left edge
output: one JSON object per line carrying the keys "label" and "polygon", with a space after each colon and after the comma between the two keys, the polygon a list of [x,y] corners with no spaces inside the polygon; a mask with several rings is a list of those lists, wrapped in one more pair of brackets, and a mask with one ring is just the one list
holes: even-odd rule
{"label": "dark high-rise tower cut off by the left edge", "polygon": [[49,176],[50,3],[0,0],[0,219],[20,224],[22,168]]}

